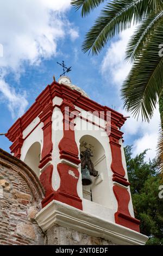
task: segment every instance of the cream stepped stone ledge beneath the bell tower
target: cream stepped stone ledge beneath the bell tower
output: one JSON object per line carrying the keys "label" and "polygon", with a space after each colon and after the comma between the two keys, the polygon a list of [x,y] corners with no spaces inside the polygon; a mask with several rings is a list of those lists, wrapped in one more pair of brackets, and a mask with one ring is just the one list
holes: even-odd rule
{"label": "cream stepped stone ledge beneath the bell tower", "polygon": [[134,230],[87,214],[56,200],[36,215],[36,221],[43,231],[57,224],[89,236],[109,240],[116,245],[145,245],[148,240],[147,236]]}

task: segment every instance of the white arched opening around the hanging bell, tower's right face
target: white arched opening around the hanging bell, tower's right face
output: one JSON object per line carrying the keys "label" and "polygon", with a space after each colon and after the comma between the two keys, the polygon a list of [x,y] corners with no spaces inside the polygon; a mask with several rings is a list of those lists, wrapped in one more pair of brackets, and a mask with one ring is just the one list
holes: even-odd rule
{"label": "white arched opening around the hanging bell, tower's right face", "polygon": [[[83,157],[83,151],[87,148],[91,149],[92,157],[91,162],[95,170],[97,170],[97,176],[90,176],[92,184],[89,186],[83,185],[83,198],[92,202],[107,205],[105,198],[106,191],[108,191],[109,181],[107,175],[106,157],[105,150],[102,144],[90,135],[84,135],[80,138],[80,157]],[[81,154],[82,153],[82,154]],[[83,172],[83,169],[81,169]],[[83,175],[83,174],[82,174]]]}

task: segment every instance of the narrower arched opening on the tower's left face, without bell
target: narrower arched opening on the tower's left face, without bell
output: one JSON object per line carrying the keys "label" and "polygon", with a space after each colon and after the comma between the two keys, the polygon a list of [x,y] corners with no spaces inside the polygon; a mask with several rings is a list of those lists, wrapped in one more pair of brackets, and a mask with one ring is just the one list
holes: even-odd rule
{"label": "narrower arched opening on the tower's left face, without bell", "polygon": [[35,142],[27,151],[24,163],[26,163],[35,174],[40,176],[40,157],[41,157],[41,145],[39,142]]}

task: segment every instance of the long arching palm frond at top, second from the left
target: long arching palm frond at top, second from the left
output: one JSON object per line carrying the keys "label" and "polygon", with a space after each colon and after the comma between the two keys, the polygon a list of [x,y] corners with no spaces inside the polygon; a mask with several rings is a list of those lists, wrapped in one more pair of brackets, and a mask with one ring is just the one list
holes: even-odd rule
{"label": "long arching palm frond at top, second from the left", "polygon": [[86,34],[83,52],[98,54],[116,34],[141,22],[153,9],[144,0],[115,0],[106,4],[95,25]]}

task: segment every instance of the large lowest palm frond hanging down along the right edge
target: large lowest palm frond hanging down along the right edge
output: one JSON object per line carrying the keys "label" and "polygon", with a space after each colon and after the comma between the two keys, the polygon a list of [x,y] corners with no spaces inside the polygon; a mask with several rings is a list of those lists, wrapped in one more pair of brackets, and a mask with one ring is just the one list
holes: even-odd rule
{"label": "large lowest palm frond hanging down along the right edge", "polygon": [[163,20],[139,59],[136,59],[121,90],[124,108],[134,116],[141,113],[142,119],[147,121],[152,118],[162,89],[163,57],[159,57],[159,44],[163,41],[162,29]]}

